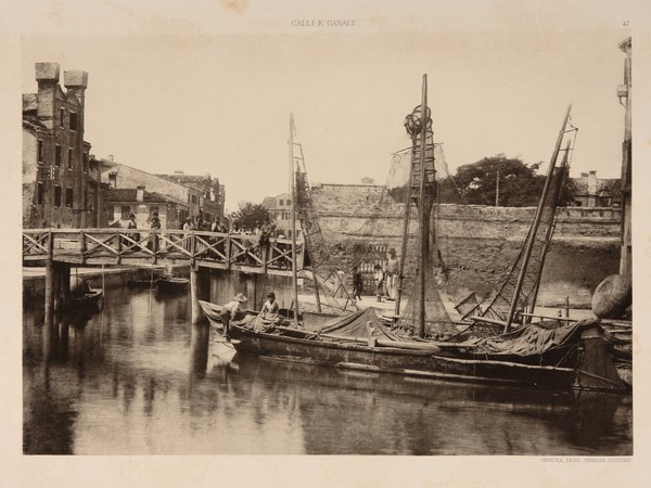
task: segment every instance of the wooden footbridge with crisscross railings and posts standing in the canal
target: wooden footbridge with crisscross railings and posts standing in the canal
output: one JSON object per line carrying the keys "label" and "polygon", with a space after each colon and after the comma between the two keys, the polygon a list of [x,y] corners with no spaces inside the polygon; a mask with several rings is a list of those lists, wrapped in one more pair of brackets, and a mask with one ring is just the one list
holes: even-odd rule
{"label": "wooden footbridge with crisscross railings and posts standing in the canal", "polygon": [[[304,246],[296,245],[296,269]],[[200,299],[208,299],[209,268],[252,274],[293,275],[292,241],[206,231],[139,229],[25,229],[23,265],[46,266],[46,323],[68,308],[72,266],[151,267],[188,264],[192,322],[201,317]]]}

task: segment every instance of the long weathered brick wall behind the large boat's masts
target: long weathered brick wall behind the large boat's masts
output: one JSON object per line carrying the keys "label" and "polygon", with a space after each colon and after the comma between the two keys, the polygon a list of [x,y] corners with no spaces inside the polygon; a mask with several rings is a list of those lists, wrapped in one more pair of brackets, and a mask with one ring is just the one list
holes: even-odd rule
{"label": "long weathered brick wall behind the large boat's masts", "polygon": [[[350,274],[363,256],[363,272],[401,246],[404,204],[382,187],[323,184],[312,188],[320,226],[336,265]],[[441,205],[437,244],[448,269],[444,294],[457,301],[471,291],[488,297],[505,280],[523,244],[535,208]],[[410,235],[416,235],[416,213]],[[588,306],[591,292],[617,272],[620,210],[569,207],[560,209],[539,293],[541,305],[557,306],[565,296],[574,306]],[[414,266],[413,239],[408,244],[407,275]],[[370,280],[367,280],[370,286]],[[369,291],[369,286],[365,286]]]}

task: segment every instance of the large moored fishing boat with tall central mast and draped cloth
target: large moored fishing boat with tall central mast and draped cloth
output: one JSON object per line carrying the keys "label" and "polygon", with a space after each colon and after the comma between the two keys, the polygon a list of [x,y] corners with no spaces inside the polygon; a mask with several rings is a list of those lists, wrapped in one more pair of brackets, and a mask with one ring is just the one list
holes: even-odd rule
{"label": "large moored fishing boat with tall central mast and draped cloth", "polygon": [[[426,75],[422,103],[408,116],[407,130],[413,144],[408,202],[413,201],[418,208],[419,267],[414,293],[398,328],[392,331],[384,325],[372,308],[332,318],[318,328],[278,325],[260,331],[231,322],[230,339],[235,350],[276,360],[421,377],[626,390],[598,321],[553,329],[529,324],[461,344],[424,339],[426,330],[454,328],[432,272],[431,219],[436,181]],[[400,331],[409,331],[410,336]]]}

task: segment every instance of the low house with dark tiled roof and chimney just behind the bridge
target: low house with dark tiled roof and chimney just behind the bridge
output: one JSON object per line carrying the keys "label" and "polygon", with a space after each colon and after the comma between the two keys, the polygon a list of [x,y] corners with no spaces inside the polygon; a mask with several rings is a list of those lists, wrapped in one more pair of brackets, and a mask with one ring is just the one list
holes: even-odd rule
{"label": "low house with dark tiled roof and chimney just behind the bridge", "polygon": [[145,191],[143,184],[135,189],[111,189],[106,192],[112,222],[126,228],[129,215],[136,216],[139,229],[149,229],[154,211],[158,213],[162,229],[179,229],[179,216],[188,211],[188,205],[156,192]]}

